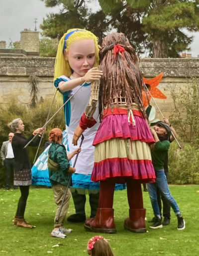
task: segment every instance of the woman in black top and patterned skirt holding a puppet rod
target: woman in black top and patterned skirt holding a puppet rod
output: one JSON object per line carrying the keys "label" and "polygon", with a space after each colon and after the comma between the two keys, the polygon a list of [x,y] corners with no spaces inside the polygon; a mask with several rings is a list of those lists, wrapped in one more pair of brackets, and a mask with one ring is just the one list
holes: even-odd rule
{"label": "woman in black top and patterned skirt holding a puppet rod", "polygon": [[31,168],[28,161],[28,154],[24,146],[34,137],[35,134],[39,134],[35,141],[32,141],[29,146],[37,146],[41,140],[41,135],[44,129],[36,129],[32,135],[26,139],[22,132],[24,131],[24,124],[20,118],[14,119],[8,124],[14,131],[14,136],[12,138],[12,149],[14,153],[14,186],[19,186],[21,197],[18,201],[18,206],[16,210],[16,215],[14,217],[14,225],[24,228],[34,228],[28,222],[24,220],[24,212],[26,207],[26,201],[29,194],[29,185],[31,185]]}

